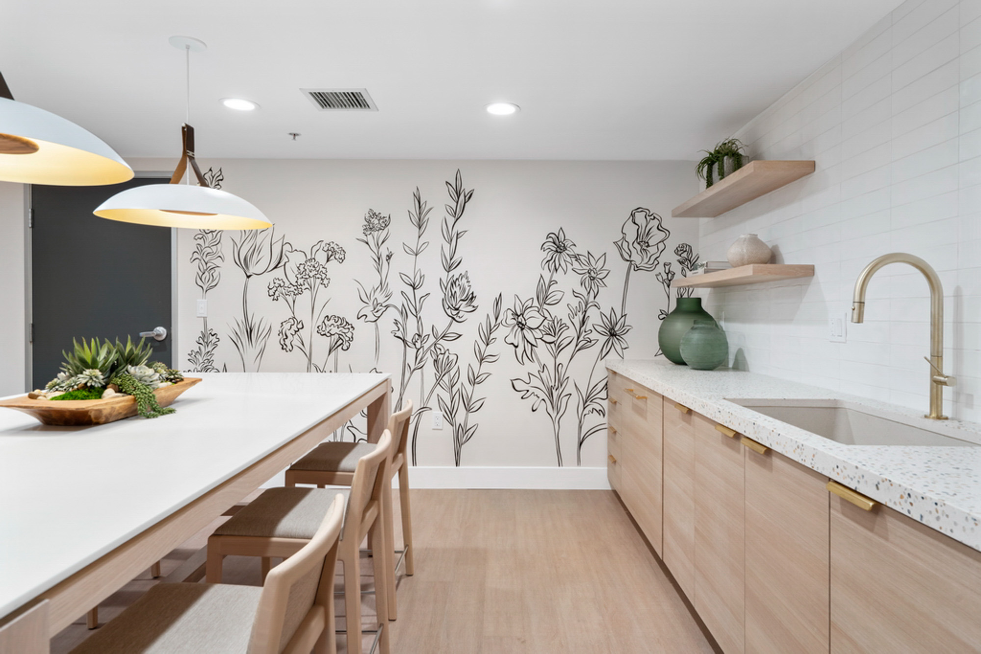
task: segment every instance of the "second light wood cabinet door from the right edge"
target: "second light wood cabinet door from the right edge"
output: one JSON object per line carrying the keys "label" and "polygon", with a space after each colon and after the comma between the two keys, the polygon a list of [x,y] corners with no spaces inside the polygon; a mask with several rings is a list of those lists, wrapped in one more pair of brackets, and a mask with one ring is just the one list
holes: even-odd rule
{"label": "second light wood cabinet door from the right edge", "polygon": [[746,651],[828,652],[828,478],[746,454]]}

